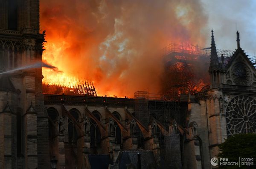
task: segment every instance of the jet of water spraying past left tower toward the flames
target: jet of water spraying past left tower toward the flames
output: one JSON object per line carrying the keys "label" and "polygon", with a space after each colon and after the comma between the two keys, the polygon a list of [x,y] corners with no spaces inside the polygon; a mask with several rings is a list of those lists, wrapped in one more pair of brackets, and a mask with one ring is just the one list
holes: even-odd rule
{"label": "jet of water spraying past left tower toward the flames", "polygon": [[52,66],[52,65],[49,65],[48,63],[46,62],[35,62],[34,64],[31,64],[31,65],[26,65],[26,66],[23,66],[23,67],[20,67],[20,68],[16,68],[16,69],[13,69],[13,70],[8,70],[8,71],[5,71],[5,72],[2,72],[0,73],[0,75],[2,74],[6,74],[6,73],[12,73],[14,71],[17,71],[17,70],[25,70],[25,69],[31,69],[31,68],[50,68],[56,72],[61,72],[58,70],[58,68],[56,68],[55,66]]}

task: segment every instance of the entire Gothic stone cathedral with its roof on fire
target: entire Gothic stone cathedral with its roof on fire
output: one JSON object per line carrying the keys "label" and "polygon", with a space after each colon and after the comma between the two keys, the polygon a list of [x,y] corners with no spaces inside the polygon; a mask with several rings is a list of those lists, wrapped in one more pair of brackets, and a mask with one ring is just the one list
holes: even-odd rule
{"label": "entire Gothic stone cathedral with its roof on fire", "polygon": [[[225,138],[256,131],[256,70],[238,32],[226,57],[212,31],[210,54],[201,57],[210,85],[199,92],[172,85],[172,96],[111,98],[88,84],[84,96],[51,95],[42,92],[41,68],[3,73],[42,60],[39,0],[0,0],[0,16],[2,169],[210,169]],[[168,50],[166,70],[201,55]]]}

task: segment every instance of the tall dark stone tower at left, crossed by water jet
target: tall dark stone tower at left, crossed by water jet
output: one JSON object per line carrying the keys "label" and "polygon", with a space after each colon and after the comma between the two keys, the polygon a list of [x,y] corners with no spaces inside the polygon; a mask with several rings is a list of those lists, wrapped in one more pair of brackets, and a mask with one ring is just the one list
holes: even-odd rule
{"label": "tall dark stone tower at left, crossed by water jet", "polygon": [[[0,72],[42,60],[39,0],[0,0]],[[0,168],[49,168],[42,70],[0,75]]]}

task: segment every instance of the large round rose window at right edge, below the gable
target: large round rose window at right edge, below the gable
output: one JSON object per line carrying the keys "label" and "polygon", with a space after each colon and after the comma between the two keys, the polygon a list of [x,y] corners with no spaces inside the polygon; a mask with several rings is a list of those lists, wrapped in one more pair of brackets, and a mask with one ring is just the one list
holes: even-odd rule
{"label": "large round rose window at right edge, below the gable", "polygon": [[226,108],[227,134],[256,132],[256,100],[236,96]]}

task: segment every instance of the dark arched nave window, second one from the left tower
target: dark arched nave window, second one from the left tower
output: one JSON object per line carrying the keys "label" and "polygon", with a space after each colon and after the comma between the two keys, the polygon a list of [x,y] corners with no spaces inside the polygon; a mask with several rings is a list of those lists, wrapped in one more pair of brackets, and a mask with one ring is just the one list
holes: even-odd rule
{"label": "dark arched nave window, second one from the left tower", "polygon": [[[76,121],[79,120],[79,113],[76,110],[70,110],[70,114]],[[72,118],[68,118],[68,142],[69,144],[77,144],[77,132],[75,121]]]}

